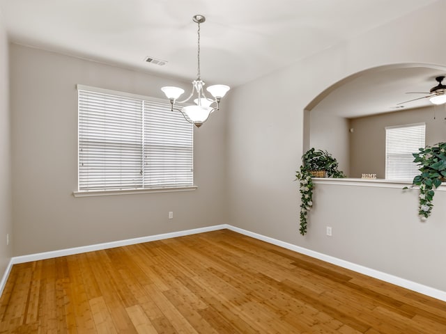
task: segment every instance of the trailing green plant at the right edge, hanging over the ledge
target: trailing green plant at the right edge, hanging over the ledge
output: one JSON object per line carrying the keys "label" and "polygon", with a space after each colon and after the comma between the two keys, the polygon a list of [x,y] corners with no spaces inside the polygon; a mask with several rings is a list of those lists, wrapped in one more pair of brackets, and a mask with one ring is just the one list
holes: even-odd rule
{"label": "trailing green plant at the right edge, hanging over the ledge", "polygon": [[413,153],[413,162],[420,166],[420,174],[413,178],[412,187],[420,186],[418,214],[426,220],[432,213],[435,190],[446,181],[446,143],[426,146],[419,151]]}

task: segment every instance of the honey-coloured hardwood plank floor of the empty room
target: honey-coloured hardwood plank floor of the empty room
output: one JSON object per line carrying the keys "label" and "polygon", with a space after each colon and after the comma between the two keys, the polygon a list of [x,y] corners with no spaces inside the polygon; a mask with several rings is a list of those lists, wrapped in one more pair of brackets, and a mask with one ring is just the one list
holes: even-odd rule
{"label": "honey-coloured hardwood plank floor of the empty room", "polygon": [[219,230],[16,264],[0,333],[446,333],[446,303]]}

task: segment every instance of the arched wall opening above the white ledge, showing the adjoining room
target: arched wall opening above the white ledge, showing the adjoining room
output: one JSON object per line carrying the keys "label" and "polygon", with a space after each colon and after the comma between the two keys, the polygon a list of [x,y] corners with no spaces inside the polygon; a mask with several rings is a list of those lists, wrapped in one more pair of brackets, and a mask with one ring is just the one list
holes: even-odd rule
{"label": "arched wall opening above the white ledge, showing the adjoining room", "polygon": [[[422,98],[445,74],[445,66],[399,63],[337,81],[305,107],[303,152],[328,150],[348,177],[370,173],[384,179],[385,127],[424,122],[426,145],[446,141],[445,105]],[[401,104],[407,100],[415,101]]]}

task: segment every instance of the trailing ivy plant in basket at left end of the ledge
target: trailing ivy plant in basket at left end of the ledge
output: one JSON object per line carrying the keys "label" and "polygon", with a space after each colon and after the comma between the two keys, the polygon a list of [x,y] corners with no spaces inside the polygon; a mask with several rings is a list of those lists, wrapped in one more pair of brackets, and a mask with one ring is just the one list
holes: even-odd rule
{"label": "trailing ivy plant in basket at left end of the ledge", "polygon": [[[302,235],[307,233],[307,215],[313,206],[313,180],[312,177],[321,175],[323,177],[346,177],[339,170],[339,164],[332,154],[323,150],[311,148],[302,155],[302,166],[296,171],[296,178],[300,184],[300,228]],[[318,174],[316,172],[323,172]]]}

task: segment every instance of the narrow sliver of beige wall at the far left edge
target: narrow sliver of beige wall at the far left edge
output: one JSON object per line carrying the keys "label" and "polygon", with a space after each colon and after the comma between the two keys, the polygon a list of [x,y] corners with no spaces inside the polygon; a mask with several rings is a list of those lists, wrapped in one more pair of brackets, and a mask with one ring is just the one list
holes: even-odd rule
{"label": "narrow sliver of beige wall at the far left edge", "polygon": [[[3,274],[12,254],[11,154],[8,84],[8,39],[0,13],[0,273]],[[6,246],[6,234],[10,246]]]}

